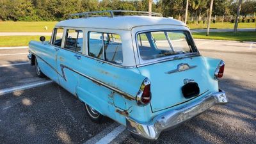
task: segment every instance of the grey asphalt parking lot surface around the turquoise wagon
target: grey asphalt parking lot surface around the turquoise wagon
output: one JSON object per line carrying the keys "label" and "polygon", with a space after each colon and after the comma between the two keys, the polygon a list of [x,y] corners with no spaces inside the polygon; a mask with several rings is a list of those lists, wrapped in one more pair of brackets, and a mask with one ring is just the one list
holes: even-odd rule
{"label": "grey asphalt parking lot surface around the turquoise wagon", "polygon": [[83,104],[58,84],[20,90],[50,80],[36,77],[27,48],[0,48],[0,143],[256,143],[256,44],[196,40],[196,45],[203,56],[225,61],[220,88],[229,102],[163,132],[157,141],[134,138],[110,119],[93,123]]}

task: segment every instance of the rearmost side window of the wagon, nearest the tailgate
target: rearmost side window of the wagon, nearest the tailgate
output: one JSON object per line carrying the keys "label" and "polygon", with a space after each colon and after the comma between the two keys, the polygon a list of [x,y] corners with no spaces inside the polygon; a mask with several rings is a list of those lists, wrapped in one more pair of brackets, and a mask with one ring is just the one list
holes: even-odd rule
{"label": "rearmost side window of the wagon, nearest the tailgate", "polygon": [[90,32],[88,35],[89,56],[117,65],[123,63],[122,40],[120,35],[99,32]]}

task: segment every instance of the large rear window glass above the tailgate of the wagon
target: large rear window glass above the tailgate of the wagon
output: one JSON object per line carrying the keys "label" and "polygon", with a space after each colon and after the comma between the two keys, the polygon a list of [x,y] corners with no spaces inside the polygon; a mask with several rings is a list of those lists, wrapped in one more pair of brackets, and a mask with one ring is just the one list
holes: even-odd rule
{"label": "large rear window glass above the tailgate of the wagon", "polygon": [[137,35],[142,60],[197,52],[187,31],[150,31]]}

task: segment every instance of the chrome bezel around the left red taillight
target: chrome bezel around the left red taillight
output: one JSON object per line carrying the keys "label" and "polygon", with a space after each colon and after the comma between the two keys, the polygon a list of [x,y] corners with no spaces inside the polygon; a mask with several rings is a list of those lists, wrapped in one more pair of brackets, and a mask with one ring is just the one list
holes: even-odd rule
{"label": "chrome bezel around the left red taillight", "polygon": [[143,80],[143,82],[142,82],[142,84],[140,86],[140,90],[139,90],[139,92],[138,92],[138,94],[136,96],[136,102],[137,102],[138,106],[146,106],[147,104],[150,103],[150,101],[151,101],[151,92],[150,92],[150,100],[149,100],[149,102],[144,103],[142,101],[142,95],[143,95],[144,88],[145,88],[145,86],[150,85],[150,84],[151,83],[150,83],[148,78]]}

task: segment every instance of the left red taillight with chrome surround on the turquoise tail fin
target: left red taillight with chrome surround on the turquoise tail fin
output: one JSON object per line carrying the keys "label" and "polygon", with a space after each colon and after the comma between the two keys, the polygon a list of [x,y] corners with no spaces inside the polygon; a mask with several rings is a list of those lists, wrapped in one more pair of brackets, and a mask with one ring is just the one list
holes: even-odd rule
{"label": "left red taillight with chrome surround on the turquoise tail fin", "polygon": [[136,101],[138,105],[145,106],[151,100],[151,92],[150,92],[150,81],[149,79],[144,79],[143,83],[140,86],[140,90],[137,94]]}

